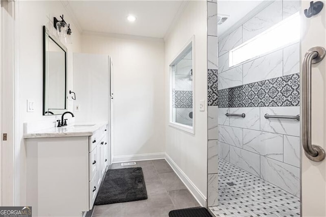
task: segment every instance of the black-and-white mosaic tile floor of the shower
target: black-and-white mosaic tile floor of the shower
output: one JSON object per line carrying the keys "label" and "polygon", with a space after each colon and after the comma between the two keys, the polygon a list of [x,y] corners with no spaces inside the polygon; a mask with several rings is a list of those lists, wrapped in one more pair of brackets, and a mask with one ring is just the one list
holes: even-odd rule
{"label": "black-and-white mosaic tile floor of the shower", "polygon": [[300,216],[300,200],[219,159],[219,205],[215,216]]}

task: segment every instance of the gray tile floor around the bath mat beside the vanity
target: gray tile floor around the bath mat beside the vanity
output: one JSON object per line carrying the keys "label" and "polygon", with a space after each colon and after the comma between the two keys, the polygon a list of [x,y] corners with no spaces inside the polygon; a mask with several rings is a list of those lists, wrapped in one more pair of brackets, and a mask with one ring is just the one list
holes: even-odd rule
{"label": "gray tile floor around the bath mat beside the vanity", "polygon": [[173,209],[200,206],[165,159],[137,161],[136,163],[132,166],[113,164],[110,169],[141,167],[148,199],[95,206],[92,216],[168,217],[169,211]]}

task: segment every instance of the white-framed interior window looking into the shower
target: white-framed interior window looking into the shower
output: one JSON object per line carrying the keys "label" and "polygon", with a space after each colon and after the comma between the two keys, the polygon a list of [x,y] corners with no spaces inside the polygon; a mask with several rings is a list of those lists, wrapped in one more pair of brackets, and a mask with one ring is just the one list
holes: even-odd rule
{"label": "white-framed interior window looking into the shower", "polygon": [[170,125],[194,133],[193,40],[170,64]]}

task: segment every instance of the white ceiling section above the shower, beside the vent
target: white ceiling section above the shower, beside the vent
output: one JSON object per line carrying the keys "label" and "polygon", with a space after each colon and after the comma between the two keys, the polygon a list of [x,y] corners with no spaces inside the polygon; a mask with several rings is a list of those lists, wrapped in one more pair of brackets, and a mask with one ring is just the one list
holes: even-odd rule
{"label": "white ceiling section above the shower, beside the vent", "polygon": [[218,14],[230,16],[223,24],[218,25],[218,36],[225,33],[231,26],[236,24],[262,2],[264,1],[218,1]]}

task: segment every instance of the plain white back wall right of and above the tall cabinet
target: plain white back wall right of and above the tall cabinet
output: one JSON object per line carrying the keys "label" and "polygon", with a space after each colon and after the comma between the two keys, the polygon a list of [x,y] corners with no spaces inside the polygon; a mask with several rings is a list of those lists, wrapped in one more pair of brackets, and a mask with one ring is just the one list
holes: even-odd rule
{"label": "plain white back wall right of and above the tall cabinet", "polygon": [[164,41],[83,35],[82,44],[82,52],[107,54],[113,60],[114,161],[164,152]]}

